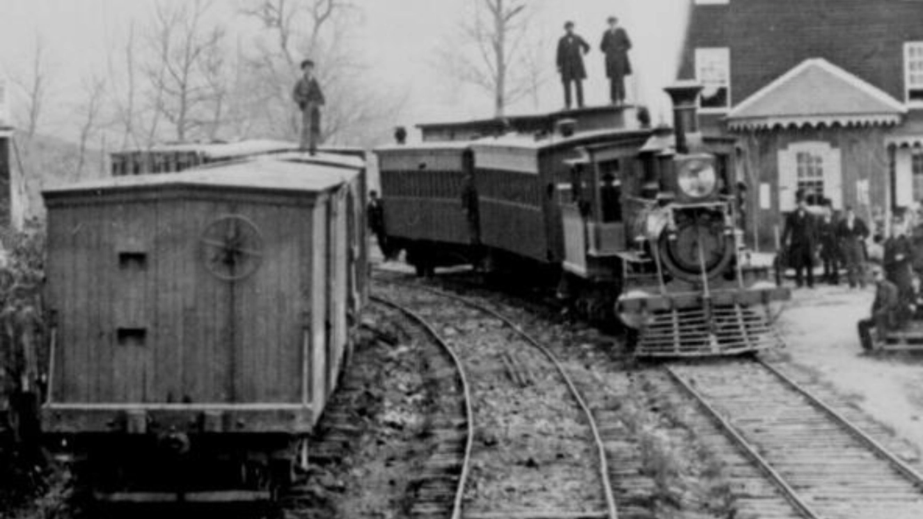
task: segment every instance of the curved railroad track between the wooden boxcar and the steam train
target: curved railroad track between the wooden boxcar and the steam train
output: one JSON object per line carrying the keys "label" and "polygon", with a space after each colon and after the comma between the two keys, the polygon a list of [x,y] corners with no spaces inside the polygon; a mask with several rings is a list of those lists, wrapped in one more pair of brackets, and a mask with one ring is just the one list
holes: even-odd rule
{"label": "curved railroad track between the wooden boxcar and the steam train", "polygon": [[[550,350],[474,301],[399,277],[376,279],[390,303],[455,351],[470,383],[477,427],[455,517],[617,517],[599,428]],[[592,486],[588,466],[597,469]]]}

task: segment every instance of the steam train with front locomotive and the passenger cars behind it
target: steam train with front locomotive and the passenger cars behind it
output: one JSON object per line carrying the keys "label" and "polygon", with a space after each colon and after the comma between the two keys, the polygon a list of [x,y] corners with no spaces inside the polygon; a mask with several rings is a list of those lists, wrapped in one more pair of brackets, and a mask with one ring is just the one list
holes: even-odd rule
{"label": "steam train with front locomotive and the passenger cars behind it", "polygon": [[743,249],[734,139],[699,131],[701,86],[666,90],[672,130],[603,107],[423,124],[421,144],[378,148],[389,247],[418,274],[543,266],[633,330],[637,356],[779,346],[771,308],[790,294]]}

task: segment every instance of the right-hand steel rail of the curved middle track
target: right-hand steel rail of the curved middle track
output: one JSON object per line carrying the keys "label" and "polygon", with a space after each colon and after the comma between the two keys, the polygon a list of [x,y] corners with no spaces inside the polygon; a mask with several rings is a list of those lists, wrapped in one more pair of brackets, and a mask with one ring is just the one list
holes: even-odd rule
{"label": "right-hand steel rail of the curved middle track", "polygon": [[488,308],[480,303],[471,301],[467,298],[464,298],[456,294],[452,294],[450,292],[446,292],[444,290],[433,289],[431,287],[411,285],[411,284],[404,283],[396,279],[382,279],[382,281],[385,283],[402,285],[410,289],[419,289],[419,290],[427,291],[432,294],[436,294],[438,296],[448,298],[453,301],[459,301],[462,304],[468,305],[476,310],[486,313],[490,315],[491,317],[494,317],[498,321],[502,322],[503,324],[506,324],[507,326],[512,328],[513,331],[519,334],[519,336],[521,336],[522,339],[524,339],[526,342],[532,345],[533,348],[538,349],[545,356],[545,358],[552,363],[552,365],[555,367],[555,370],[561,375],[561,378],[567,384],[569,391],[570,391],[570,395],[573,396],[574,400],[576,400],[577,404],[581,407],[581,410],[583,411],[584,415],[586,416],[587,421],[590,424],[590,430],[593,431],[593,442],[595,442],[596,444],[596,451],[597,451],[597,454],[599,455],[599,471],[600,471],[600,477],[603,480],[603,490],[605,493],[605,506],[606,506],[607,517],[609,519],[618,519],[616,498],[612,493],[612,483],[609,479],[609,466],[608,466],[608,461],[605,455],[605,444],[603,443],[603,437],[599,433],[599,427],[596,424],[596,420],[593,418],[593,411],[590,410],[590,407],[586,404],[586,401],[583,399],[583,396],[581,395],[580,390],[578,390],[577,386],[573,383],[572,380],[570,380],[570,376],[568,375],[567,371],[564,369],[564,366],[561,365],[560,361],[557,360],[557,357],[555,356],[555,354],[552,353],[550,349],[545,348],[545,346],[542,345],[540,342],[538,342],[538,340],[533,338],[533,336],[530,336],[527,332],[525,332],[520,327],[519,324],[514,323],[511,319],[509,319],[507,316],[503,315],[502,313],[498,313],[496,310]]}

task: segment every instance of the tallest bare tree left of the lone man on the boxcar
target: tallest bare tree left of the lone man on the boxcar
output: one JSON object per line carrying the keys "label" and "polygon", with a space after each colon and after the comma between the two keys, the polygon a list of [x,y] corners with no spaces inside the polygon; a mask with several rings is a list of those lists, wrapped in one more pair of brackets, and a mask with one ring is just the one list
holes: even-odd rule
{"label": "tallest bare tree left of the lone man on the boxcar", "polygon": [[226,93],[225,33],[222,27],[207,22],[213,3],[193,0],[167,4],[161,0],[151,18],[151,53],[144,67],[153,88],[150,101],[173,126],[179,141],[203,128],[214,136],[220,126],[216,120],[220,121]]}

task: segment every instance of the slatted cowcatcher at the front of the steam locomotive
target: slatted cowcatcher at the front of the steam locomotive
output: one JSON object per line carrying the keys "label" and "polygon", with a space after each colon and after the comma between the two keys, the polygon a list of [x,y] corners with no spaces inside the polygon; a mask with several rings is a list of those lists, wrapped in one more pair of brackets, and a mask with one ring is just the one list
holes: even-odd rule
{"label": "slatted cowcatcher at the front of the steam locomotive", "polygon": [[636,357],[713,357],[784,346],[761,312],[739,304],[655,312],[640,330]]}

